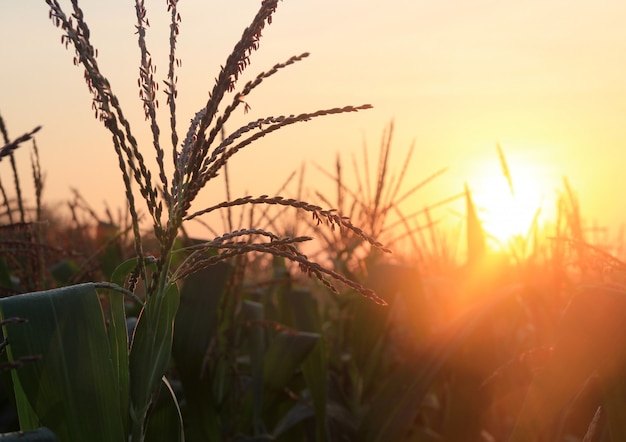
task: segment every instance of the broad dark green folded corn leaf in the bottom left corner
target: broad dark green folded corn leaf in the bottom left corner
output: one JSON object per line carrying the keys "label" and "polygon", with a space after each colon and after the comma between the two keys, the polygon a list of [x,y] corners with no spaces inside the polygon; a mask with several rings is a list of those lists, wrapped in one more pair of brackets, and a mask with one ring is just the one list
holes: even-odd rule
{"label": "broad dark green folded corn leaf in the bottom left corner", "polygon": [[[2,319],[28,321],[5,324],[8,359],[40,357],[12,373],[20,413],[30,408],[63,441],[125,441],[127,410],[94,285],[13,296],[0,306]],[[33,423],[20,415],[22,430]]]}

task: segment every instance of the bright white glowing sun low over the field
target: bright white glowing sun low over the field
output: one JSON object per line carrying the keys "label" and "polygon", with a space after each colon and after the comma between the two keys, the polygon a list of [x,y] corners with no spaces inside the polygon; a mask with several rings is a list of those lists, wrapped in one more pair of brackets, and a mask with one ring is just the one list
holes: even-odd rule
{"label": "bright white glowing sun low over the field", "polygon": [[499,248],[528,238],[533,226],[550,217],[550,192],[541,167],[518,161],[509,170],[502,154],[501,166],[485,164],[469,181],[483,228]]}

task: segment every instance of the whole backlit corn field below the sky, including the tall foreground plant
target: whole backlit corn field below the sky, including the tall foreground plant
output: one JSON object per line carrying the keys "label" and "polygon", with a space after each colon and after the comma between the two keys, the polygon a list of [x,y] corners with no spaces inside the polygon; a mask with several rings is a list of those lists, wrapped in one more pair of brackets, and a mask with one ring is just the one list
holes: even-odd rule
{"label": "whole backlit corn field below the sky, including the tall foreground plant", "polygon": [[[239,84],[278,0],[261,2],[184,136],[177,2],[167,2],[166,130],[136,1],[148,147],[100,72],[78,3],[46,3],[112,136],[126,207],[99,215],[76,191],[64,210],[50,208],[41,128],[11,138],[10,115],[0,117],[3,440],[626,440],[626,264],[585,230],[567,181],[554,223],[536,221],[498,251],[467,188],[405,209],[439,173],[400,191],[408,178],[389,170],[393,124],[375,167],[363,153],[355,182],[339,158],[323,170],[333,196],[281,196],[303,194],[297,174],[276,195],[231,196],[227,164],[239,150],[370,107],[226,127],[266,78],[307,56]],[[34,195],[16,165],[28,150]],[[192,210],[204,187],[224,185],[226,200]],[[432,217],[459,199],[460,246]],[[187,221],[214,212],[221,222],[203,221],[212,239],[187,234]]]}

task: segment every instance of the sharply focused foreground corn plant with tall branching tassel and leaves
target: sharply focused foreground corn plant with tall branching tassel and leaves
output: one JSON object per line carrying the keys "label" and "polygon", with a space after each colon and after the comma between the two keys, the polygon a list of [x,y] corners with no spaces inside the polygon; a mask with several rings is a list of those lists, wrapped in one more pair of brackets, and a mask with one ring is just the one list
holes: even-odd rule
{"label": "sharply focused foreground corn plant with tall branching tassel and leaves", "polygon": [[[162,141],[161,128],[157,124],[158,87],[154,78],[155,66],[146,46],[146,9],[143,1],[135,2],[136,34],[140,48],[140,97],[152,133],[158,164],[156,178],[146,165],[145,152],[139,148],[131,124],[111,90],[109,81],[100,71],[97,63],[98,52],[90,42],[90,30],[78,2],[72,0],[72,12],[69,14],[56,0],[46,0],[46,3],[50,8],[50,18],[63,32],[62,43],[75,49],[74,64],[85,69],[84,77],[93,94],[92,108],[95,116],[111,133],[126,189],[136,258],[121,265],[114,272],[114,284],[84,284],[52,293],[30,295],[31,302],[39,300],[45,306],[37,312],[33,313],[32,304],[23,303],[19,297],[3,303],[4,317],[15,315],[28,318],[31,314],[37,319],[31,323],[44,324],[38,337],[34,336],[33,330],[26,331],[24,324],[5,327],[11,342],[9,359],[19,358],[23,351],[44,353],[39,366],[33,367],[29,372],[19,371],[13,376],[22,429],[49,426],[62,440],[127,440],[127,435],[130,435],[133,441],[143,441],[146,434],[154,434],[147,427],[147,416],[159,389],[169,391],[169,399],[165,400],[171,405],[170,409],[177,409],[173,391],[163,377],[170,363],[173,321],[179,305],[176,282],[218,261],[249,252],[270,253],[297,263],[302,271],[316,276],[331,290],[335,290],[331,280],[338,280],[371,300],[384,304],[371,290],[312,262],[299,252],[297,245],[309,241],[310,237],[279,237],[254,226],[195,245],[188,250],[188,257],[182,265],[174,268],[173,253],[184,221],[214,210],[240,205],[291,206],[310,213],[317,223],[350,231],[371,246],[386,250],[335,211],[323,210],[319,206],[293,199],[245,197],[191,212],[192,203],[200,190],[223,170],[234,154],[252,142],[293,123],[371,107],[346,106],[300,115],[270,116],[252,121],[218,141],[218,135],[237,108],[243,106],[244,111],[247,109],[248,104],[244,99],[257,86],[280,69],[308,55],[304,53],[285,63],[276,64],[269,71],[258,74],[243,88],[236,89],[241,74],[250,64],[250,55],[259,47],[263,29],[272,22],[278,0],[261,2],[252,23],[244,30],[241,39],[220,69],[208,101],[192,118],[182,143],[177,130],[176,115],[176,68],[180,64],[176,57],[180,24],[177,1],[167,2],[171,21],[164,93],[170,119],[169,143]],[[165,144],[171,144],[172,148],[171,177],[167,173],[170,167],[166,166]],[[157,257],[144,253],[139,208],[133,186],[138,187],[141,199],[146,203],[153,233],[159,243]],[[139,287],[142,287],[143,292],[140,292]],[[108,305],[104,312],[97,302],[96,289],[113,290],[108,291]],[[120,293],[138,299],[135,292],[141,294],[140,314],[134,327],[130,351],[127,351],[124,303]],[[104,323],[103,313],[106,320]],[[94,325],[98,321],[103,324],[100,329]],[[79,327],[74,330],[78,337],[67,335],[65,330],[70,327]],[[51,341],[49,336],[53,336]],[[37,379],[37,388],[27,381],[29,375],[32,377],[28,379]],[[95,386],[94,377],[98,378]],[[105,391],[107,388],[113,390],[113,397],[110,391]],[[93,409],[86,414],[79,404],[89,397],[94,401]],[[54,401],[64,405],[60,408],[50,407]],[[173,415],[177,415],[176,411]],[[180,417],[179,413],[178,416]],[[180,431],[177,439],[181,440],[183,436],[180,420],[178,424]]]}

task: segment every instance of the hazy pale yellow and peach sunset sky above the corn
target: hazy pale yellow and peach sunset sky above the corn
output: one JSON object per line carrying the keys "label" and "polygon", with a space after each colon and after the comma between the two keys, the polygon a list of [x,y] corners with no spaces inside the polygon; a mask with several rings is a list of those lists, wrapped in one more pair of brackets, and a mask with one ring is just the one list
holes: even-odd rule
{"label": "hazy pale yellow and peach sunset sky above the corn", "polygon": [[[153,61],[164,75],[165,2],[146,3]],[[259,4],[180,2],[179,132],[205,103],[219,65]],[[133,2],[83,1],[82,7],[100,66],[135,130],[144,131]],[[489,205],[488,189],[506,186],[500,143],[518,188],[549,197],[566,175],[584,214],[616,226],[626,220],[618,196],[626,186],[625,21],[622,0],[285,0],[245,79],[291,55],[311,56],[255,91],[247,100],[250,114],[231,124],[347,104],[374,109],[291,126],[248,148],[231,165],[235,192],[274,193],[303,162],[307,183],[330,189],[313,162],[330,169],[341,152],[349,166],[365,140],[373,163],[393,118],[395,167],[412,141],[417,146],[407,187],[450,167],[413,199],[415,207],[458,193],[465,182]],[[37,138],[48,201],[63,201],[78,187],[95,208],[103,201],[116,207],[123,195],[117,160],[93,119],[82,69],[72,65],[73,52],[60,38],[43,0],[0,3],[0,112],[11,137],[44,126]],[[9,176],[6,164],[0,171]],[[203,201],[219,200],[221,192],[219,181]]]}

